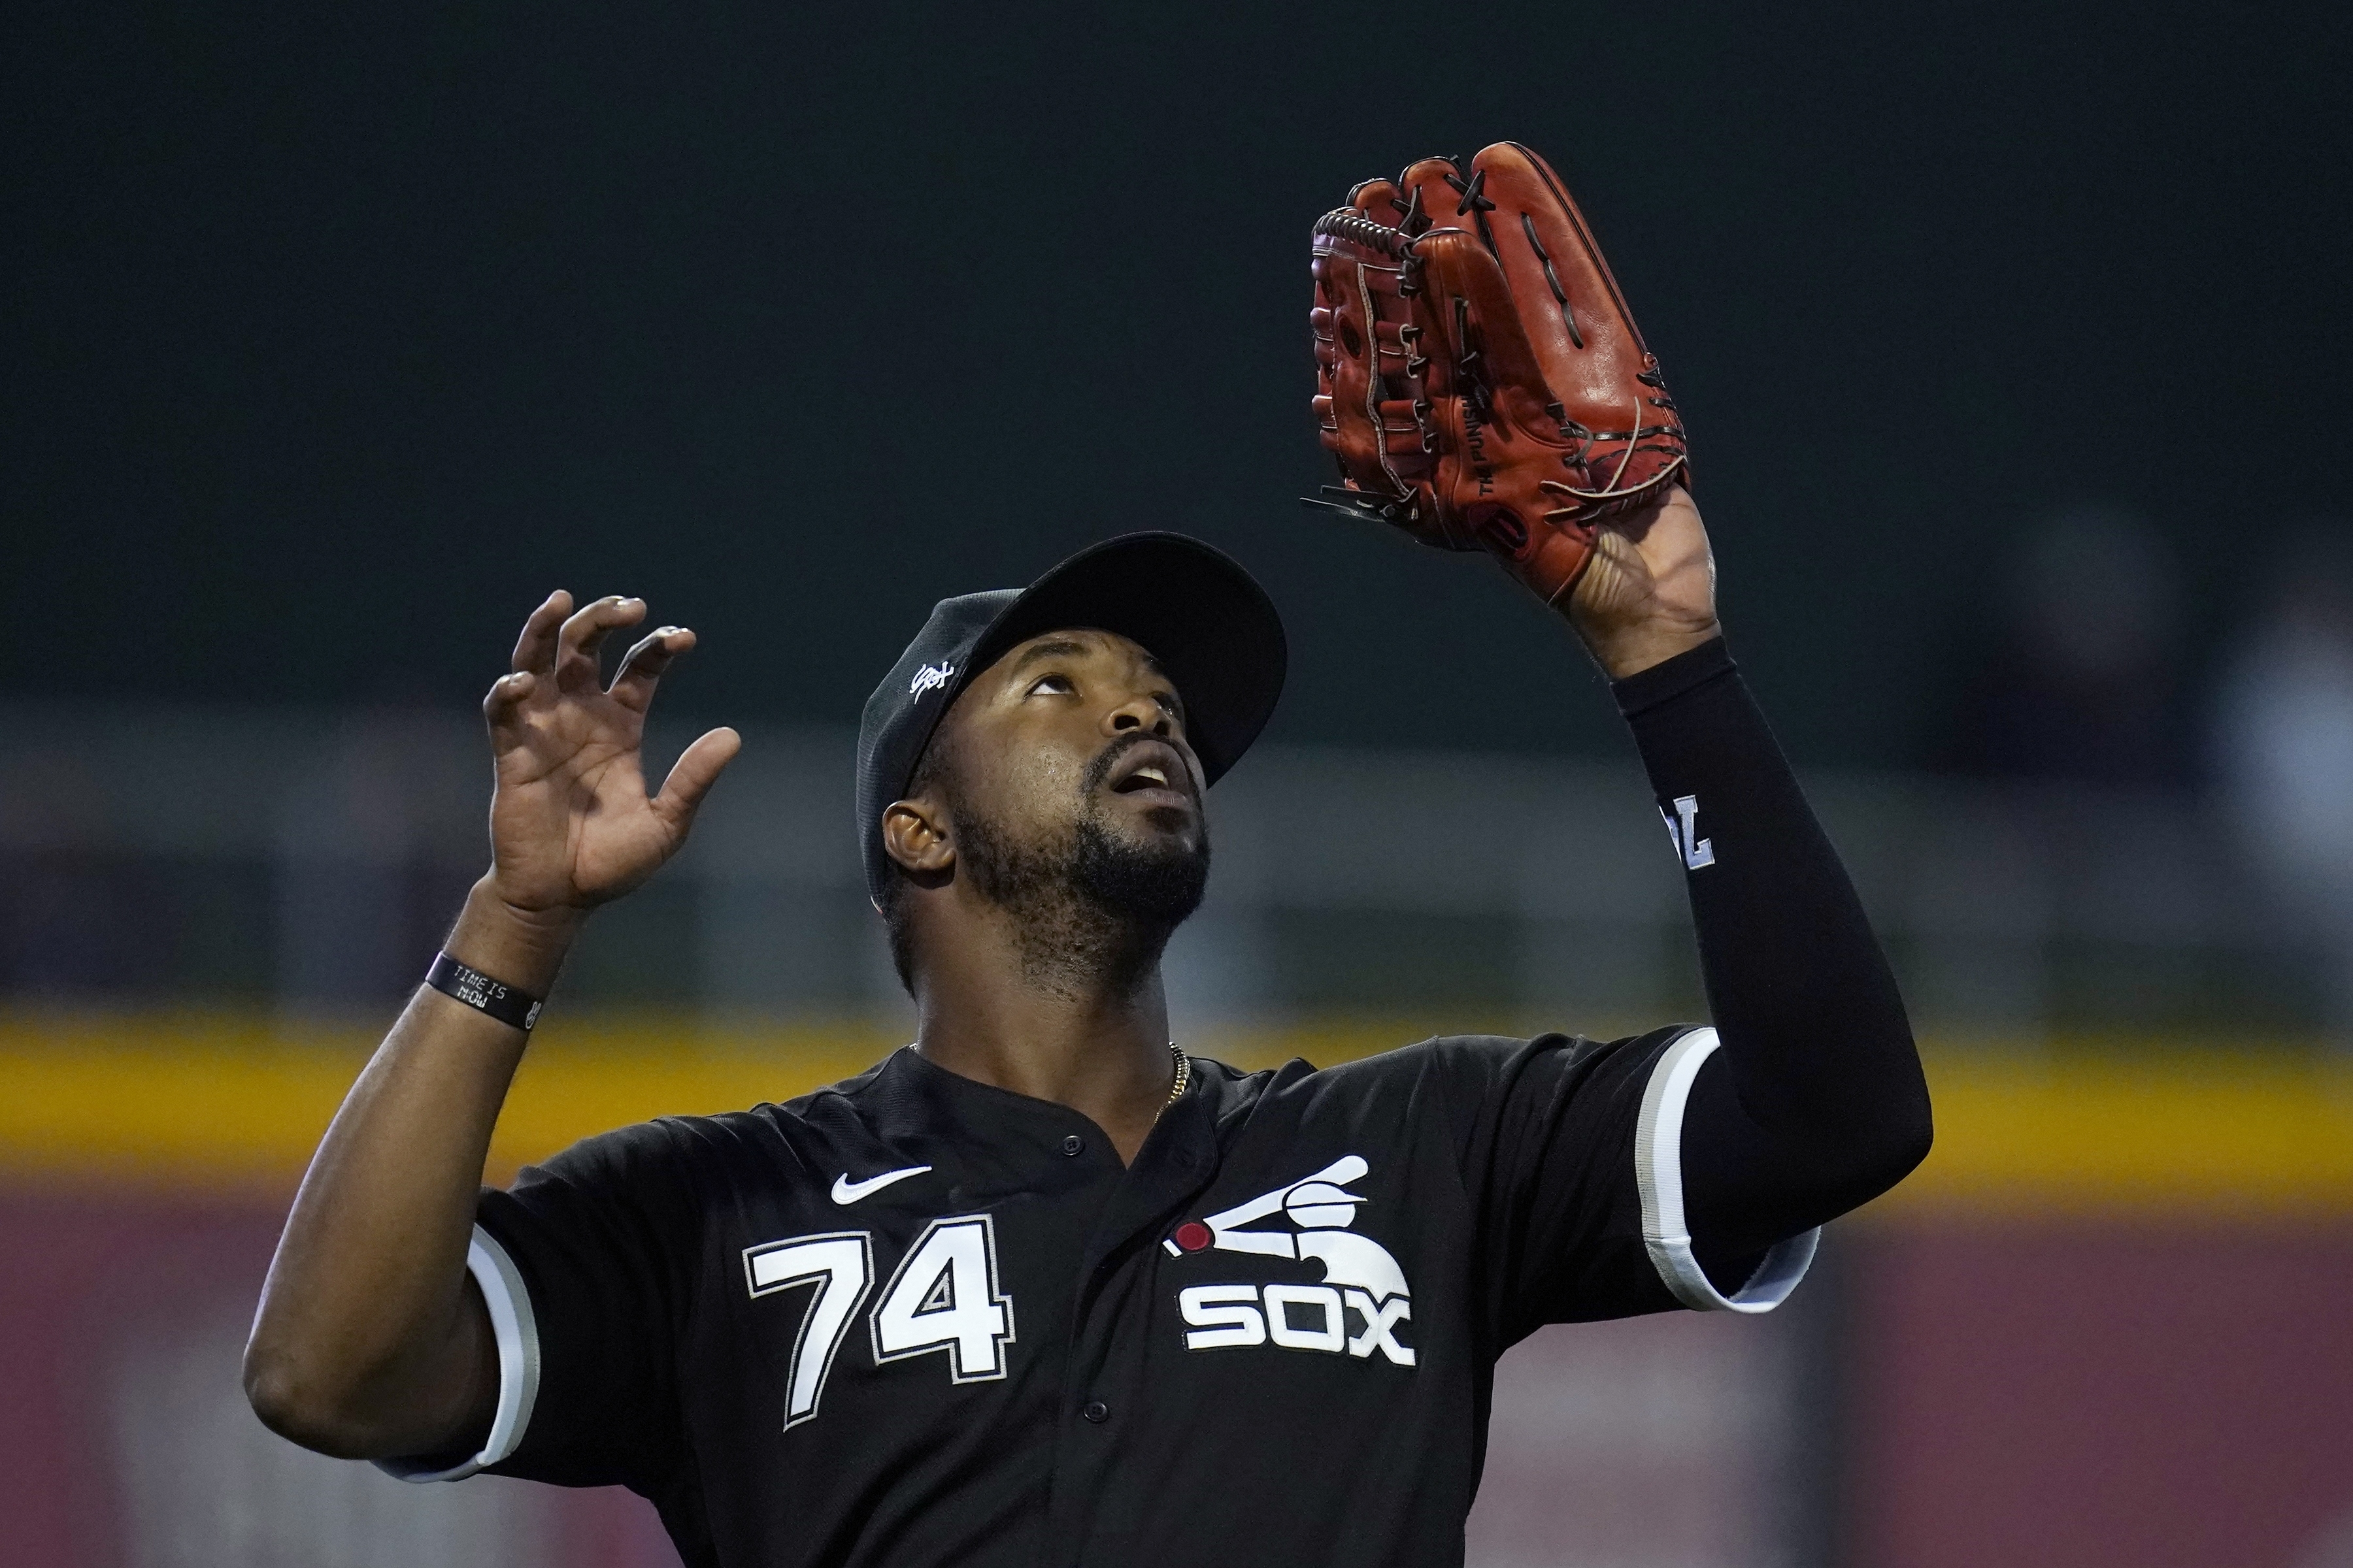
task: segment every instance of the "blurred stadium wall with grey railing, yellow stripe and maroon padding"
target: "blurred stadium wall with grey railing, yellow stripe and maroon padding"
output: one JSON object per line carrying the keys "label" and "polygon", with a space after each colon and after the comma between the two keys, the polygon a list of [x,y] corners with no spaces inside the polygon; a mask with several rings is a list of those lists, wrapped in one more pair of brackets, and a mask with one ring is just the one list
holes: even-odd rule
{"label": "blurred stadium wall with grey railing, yellow stripe and maroon padding", "polygon": [[[626,1495],[405,1488],[268,1436],[235,1385],[301,1161],[480,870],[471,724],[0,724],[0,1563],[673,1561]],[[600,914],[501,1173],[906,1037],[847,757],[755,733],[680,863]],[[1812,785],[1929,1046],[1937,1152],[1779,1314],[1513,1349],[1473,1563],[2353,1563],[2341,954],[2186,795]],[[1631,764],[1268,750],[1214,830],[1172,952],[1195,1051],[1699,1009]]]}

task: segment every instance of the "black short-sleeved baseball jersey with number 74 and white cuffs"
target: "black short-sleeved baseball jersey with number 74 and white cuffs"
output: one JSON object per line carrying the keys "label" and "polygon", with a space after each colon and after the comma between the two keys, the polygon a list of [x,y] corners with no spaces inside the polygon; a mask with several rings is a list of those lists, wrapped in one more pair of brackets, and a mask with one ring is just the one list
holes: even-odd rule
{"label": "black short-sleeved baseball jersey with number 74 and white cuffs", "polygon": [[1461,1561],[1508,1345],[1805,1269],[1727,1300],[1692,1262],[1713,1046],[1195,1060],[1127,1168],[915,1048],[591,1138],[482,1194],[487,1446],[393,1469],[621,1483],[689,1568]]}

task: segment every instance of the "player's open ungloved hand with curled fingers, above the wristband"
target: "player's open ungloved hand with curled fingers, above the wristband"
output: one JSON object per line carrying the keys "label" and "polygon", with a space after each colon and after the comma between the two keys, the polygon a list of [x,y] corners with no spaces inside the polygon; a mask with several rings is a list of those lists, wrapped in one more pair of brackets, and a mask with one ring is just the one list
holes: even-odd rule
{"label": "player's open ungloved hand with curled fingers, above the wristband", "polygon": [[628,893],[678,853],[694,809],[741,748],[713,729],[685,750],[659,795],[645,788],[645,712],[654,684],[694,632],[645,635],[607,686],[598,651],[645,621],[645,599],[605,597],[579,611],[553,592],[515,642],[513,672],[482,701],[496,757],[487,889],[513,912],[567,922]]}

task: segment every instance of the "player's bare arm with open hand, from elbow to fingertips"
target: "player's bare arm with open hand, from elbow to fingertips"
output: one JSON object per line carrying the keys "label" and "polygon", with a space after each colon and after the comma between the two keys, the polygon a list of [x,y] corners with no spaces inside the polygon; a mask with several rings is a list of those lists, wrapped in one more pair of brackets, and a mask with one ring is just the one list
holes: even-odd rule
{"label": "player's bare arm with open hand, from elbow to fingertips", "polygon": [[[647,795],[645,710],[694,632],[642,637],[607,686],[598,649],[640,621],[642,599],[574,614],[572,595],[548,595],[482,701],[492,867],[442,950],[471,978],[428,976],[344,1100],[245,1349],[254,1410],[322,1453],[440,1453],[492,1429],[501,1352],[466,1248],[499,1100],[581,917],[678,853],[744,745],[713,729]],[[478,992],[529,1006],[494,1011]]]}

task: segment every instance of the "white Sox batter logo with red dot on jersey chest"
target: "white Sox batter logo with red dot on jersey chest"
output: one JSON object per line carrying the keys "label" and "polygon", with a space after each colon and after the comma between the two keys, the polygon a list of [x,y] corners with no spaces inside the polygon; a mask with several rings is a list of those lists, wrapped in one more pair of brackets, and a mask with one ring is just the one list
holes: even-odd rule
{"label": "white Sox batter logo with red dot on jersey chest", "polygon": [[1315,1286],[1186,1286],[1176,1293],[1176,1309],[1191,1324],[1186,1349],[1275,1345],[1346,1352],[1355,1359],[1381,1352],[1395,1366],[1412,1366],[1414,1349],[1400,1345],[1395,1333],[1398,1324],[1414,1321],[1405,1269],[1386,1246],[1351,1229],[1367,1199],[1348,1192],[1348,1182],[1367,1171],[1360,1154],[1344,1154],[1306,1180],[1179,1225],[1162,1241],[1172,1258],[1202,1251],[1259,1253],[1313,1258],[1325,1269]]}

